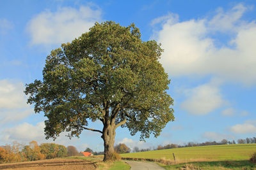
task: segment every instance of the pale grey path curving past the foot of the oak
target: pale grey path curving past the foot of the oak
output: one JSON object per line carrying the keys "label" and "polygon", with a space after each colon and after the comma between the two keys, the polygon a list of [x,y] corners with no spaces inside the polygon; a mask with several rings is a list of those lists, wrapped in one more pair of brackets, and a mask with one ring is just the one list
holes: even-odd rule
{"label": "pale grey path curving past the foot of the oak", "polygon": [[131,170],[162,170],[163,167],[159,167],[157,164],[152,162],[136,162],[136,161],[127,161],[125,160],[129,166],[131,166]]}

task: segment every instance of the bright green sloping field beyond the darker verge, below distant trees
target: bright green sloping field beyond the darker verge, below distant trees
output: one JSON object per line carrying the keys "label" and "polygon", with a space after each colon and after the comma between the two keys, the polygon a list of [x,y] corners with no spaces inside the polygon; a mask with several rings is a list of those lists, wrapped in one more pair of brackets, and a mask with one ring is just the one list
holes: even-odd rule
{"label": "bright green sloping field beyond the darker verge, below distant trees", "polygon": [[241,145],[213,145],[188,148],[173,148],[168,150],[154,150],[148,152],[125,153],[121,157],[143,159],[171,159],[173,153],[177,160],[248,160],[256,152],[256,144]]}

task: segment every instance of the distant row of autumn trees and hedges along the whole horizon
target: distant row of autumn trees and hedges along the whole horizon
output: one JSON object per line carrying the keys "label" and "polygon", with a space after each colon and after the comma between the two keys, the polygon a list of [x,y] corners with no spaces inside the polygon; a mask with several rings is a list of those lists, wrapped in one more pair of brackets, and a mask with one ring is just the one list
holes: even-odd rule
{"label": "distant row of autumn trees and hedges along the whole horizon", "polygon": [[[177,144],[167,144],[158,145],[157,148],[143,148],[139,149],[135,146],[132,152],[145,152],[150,150],[166,150],[171,148],[184,148],[193,146],[207,146],[207,145],[230,145],[230,144],[244,144],[244,143],[256,143],[256,137],[237,139],[237,141],[228,141],[227,139],[222,139],[220,142],[216,141],[206,141],[204,143],[193,143],[188,142],[184,145]],[[103,155],[104,152],[93,152],[92,149],[86,148],[84,152],[92,152],[93,155]],[[124,143],[120,143],[115,146],[116,153],[130,153],[131,148],[126,146]],[[75,146],[58,145],[55,143],[42,143],[38,145],[36,141],[31,141],[29,145],[22,145],[18,142],[13,142],[12,145],[0,146],[0,163],[10,163],[10,162],[23,162],[30,160],[42,160],[42,159],[53,159],[56,157],[70,157],[78,156],[80,153],[77,151]]]}

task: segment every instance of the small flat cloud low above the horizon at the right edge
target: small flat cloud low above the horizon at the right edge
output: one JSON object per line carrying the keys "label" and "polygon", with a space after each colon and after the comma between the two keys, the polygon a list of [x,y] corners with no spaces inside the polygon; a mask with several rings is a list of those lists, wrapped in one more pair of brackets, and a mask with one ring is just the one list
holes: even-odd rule
{"label": "small flat cloud low above the horizon at the right edge", "polygon": [[244,124],[236,124],[230,127],[230,131],[234,132],[235,134],[248,134],[248,133],[255,133],[256,126],[250,122],[246,122]]}

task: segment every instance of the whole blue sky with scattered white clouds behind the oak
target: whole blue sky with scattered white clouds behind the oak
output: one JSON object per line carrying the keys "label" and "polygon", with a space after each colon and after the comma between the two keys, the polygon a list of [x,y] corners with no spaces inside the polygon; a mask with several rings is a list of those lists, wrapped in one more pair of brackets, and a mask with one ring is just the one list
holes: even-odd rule
{"label": "whole blue sky with scattered white clouds behind the oak", "polygon": [[[52,49],[95,22],[134,22],[143,41],[162,44],[160,59],[172,80],[175,122],[146,143],[127,129],[116,144],[148,148],[168,143],[256,136],[255,1],[0,1],[0,145],[44,139],[44,114],[26,104],[24,85],[42,79]],[[101,129],[99,122],[90,127]],[[56,143],[103,150],[97,132]]]}

